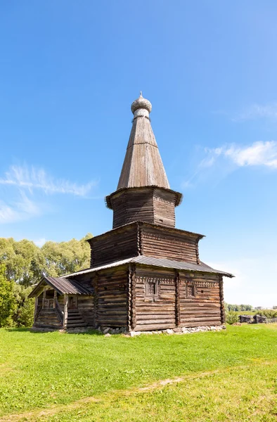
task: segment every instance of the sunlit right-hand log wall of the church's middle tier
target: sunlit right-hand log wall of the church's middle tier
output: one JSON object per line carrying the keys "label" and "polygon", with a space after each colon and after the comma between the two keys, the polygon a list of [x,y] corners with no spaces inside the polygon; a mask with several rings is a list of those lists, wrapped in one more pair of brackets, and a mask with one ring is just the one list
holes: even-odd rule
{"label": "sunlit right-hand log wall of the church's middle tier", "polygon": [[141,225],[141,250],[148,257],[199,264],[198,234]]}

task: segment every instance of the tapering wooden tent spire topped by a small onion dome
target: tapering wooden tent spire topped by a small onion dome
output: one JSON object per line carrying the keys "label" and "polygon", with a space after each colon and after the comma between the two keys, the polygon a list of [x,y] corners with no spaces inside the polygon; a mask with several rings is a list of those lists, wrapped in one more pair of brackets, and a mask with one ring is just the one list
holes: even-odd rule
{"label": "tapering wooden tent spire topped by a small onion dome", "polygon": [[134,120],[117,190],[142,186],[169,188],[167,174],[150,124],[151,109],[150,101],[143,98],[142,93],[131,105]]}

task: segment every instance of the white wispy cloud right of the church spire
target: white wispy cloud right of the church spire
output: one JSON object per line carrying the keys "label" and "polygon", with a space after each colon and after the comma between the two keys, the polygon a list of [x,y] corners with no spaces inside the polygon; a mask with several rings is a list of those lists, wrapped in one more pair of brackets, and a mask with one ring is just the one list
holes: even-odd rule
{"label": "white wispy cloud right of the church spire", "polygon": [[[199,152],[198,152],[199,153]],[[214,170],[214,175],[224,177],[239,167],[268,167],[277,169],[277,141],[258,141],[251,145],[239,146],[236,143],[204,148],[204,157],[196,166],[195,172],[183,182],[183,188],[191,188],[207,179],[207,174]]]}

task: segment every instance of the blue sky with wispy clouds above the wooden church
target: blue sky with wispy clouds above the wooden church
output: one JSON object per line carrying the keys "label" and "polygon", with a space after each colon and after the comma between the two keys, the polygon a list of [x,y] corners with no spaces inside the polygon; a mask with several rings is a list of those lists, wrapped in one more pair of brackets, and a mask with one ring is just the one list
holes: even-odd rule
{"label": "blue sky with wispy clouds above the wooden church", "polygon": [[228,302],[277,305],[276,1],[0,4],[0,236],[112,226],[143,91],[176,226],[231,271]]}

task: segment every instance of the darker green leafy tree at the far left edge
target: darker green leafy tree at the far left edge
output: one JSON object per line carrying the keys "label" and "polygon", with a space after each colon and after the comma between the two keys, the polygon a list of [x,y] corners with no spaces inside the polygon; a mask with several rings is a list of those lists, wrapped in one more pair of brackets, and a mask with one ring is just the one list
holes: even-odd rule
{"label": "darker green leafy tree at the far left edge", "polygon": [[0,327],[13,325],[16,311],[14,282],[6,279],[6,268],[0,264]]}

